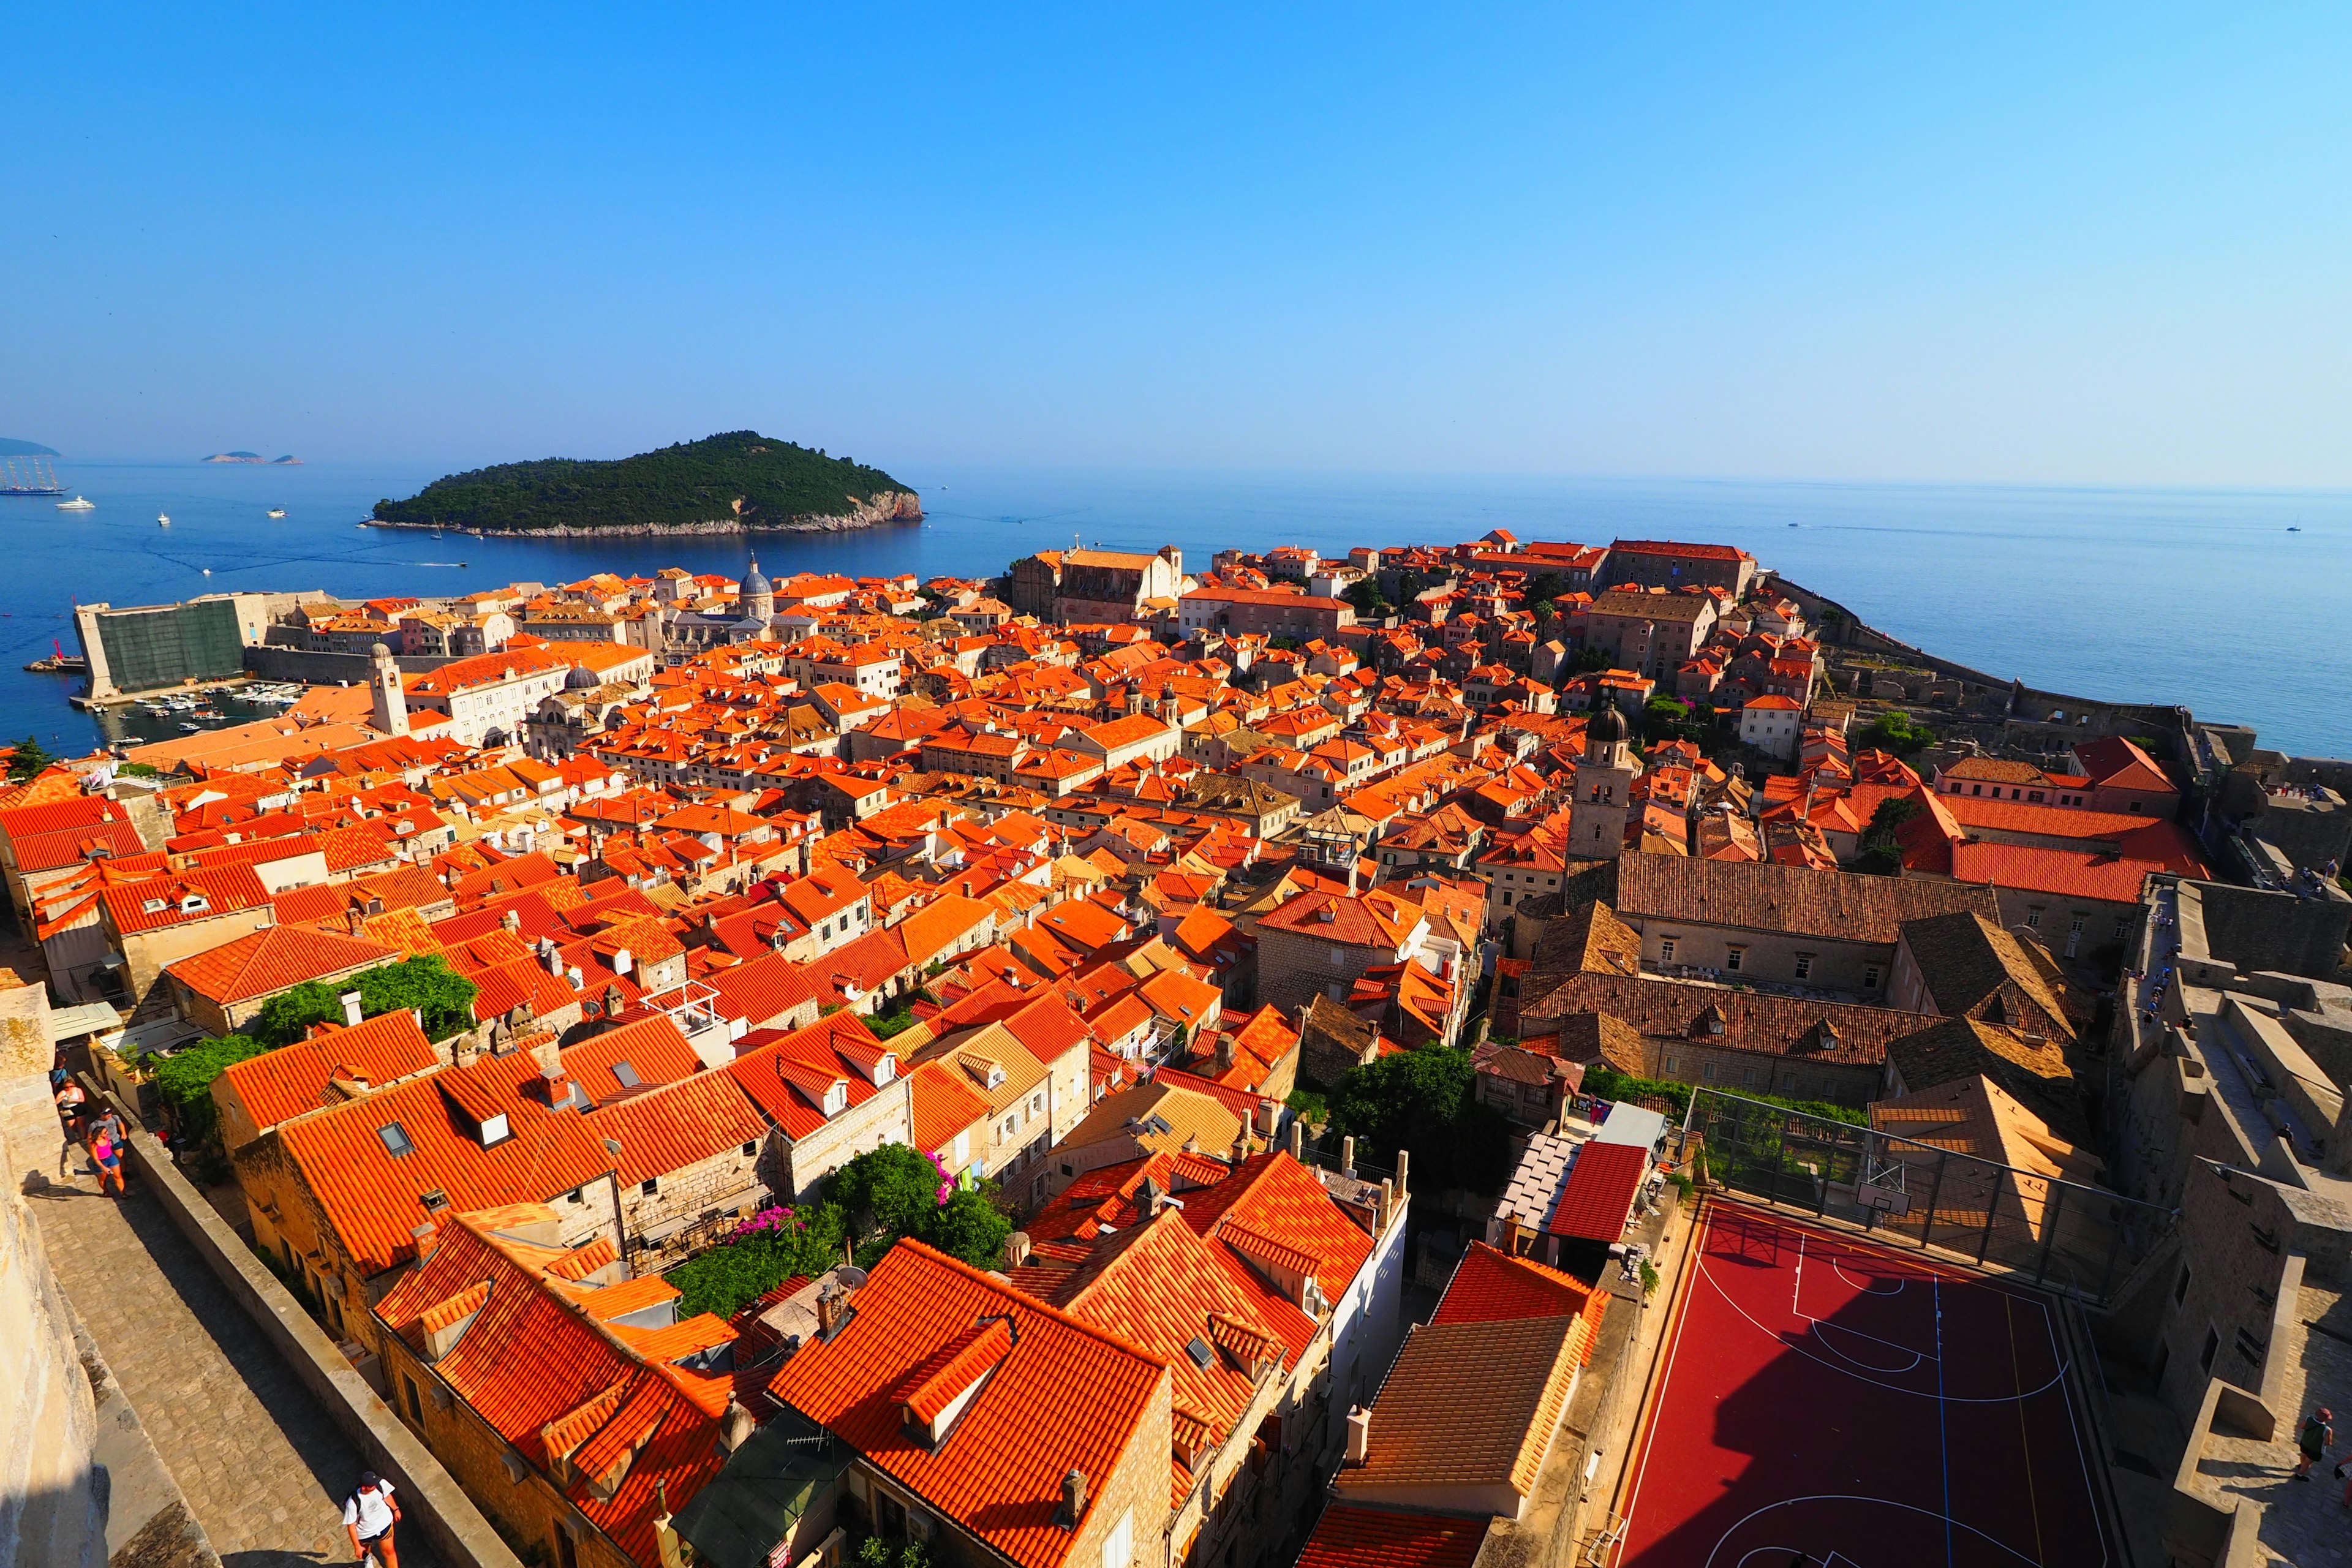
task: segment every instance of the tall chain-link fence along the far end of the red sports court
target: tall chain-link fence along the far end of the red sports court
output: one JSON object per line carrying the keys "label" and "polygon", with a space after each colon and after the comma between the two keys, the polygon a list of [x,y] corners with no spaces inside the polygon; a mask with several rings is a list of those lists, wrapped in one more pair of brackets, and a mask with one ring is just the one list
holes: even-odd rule
{"label": "tall chain-link fence along the far end of the red sports court", "polygon": [[[1691,1093],[1684,1138],[1733,1192],[1865,1225],[1884,1244],[2013,1269],[2103,1307],[2176,1213],[2105,1187],[1743,1100]],[[1693,1145],[1693,1147],[1698,1147]]]}

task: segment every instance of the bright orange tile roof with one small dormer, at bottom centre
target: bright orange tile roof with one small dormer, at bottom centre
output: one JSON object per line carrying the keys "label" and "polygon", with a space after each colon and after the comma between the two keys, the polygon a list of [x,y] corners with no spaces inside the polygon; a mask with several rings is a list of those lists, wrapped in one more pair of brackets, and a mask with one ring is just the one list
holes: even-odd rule
{"label": "bright orange tile roof with one small dormer, at bottom centre", "polygon": [[[1169,1410],[1167,1363],[922,1241],[884,1253],[854,1307],[849,1326],[804,1345],[769,1392],[997,1554],[1061,1568],[1136,1436]],[[1018,1342],[946,1443],[917,1441],[884,1394],[993,1314],[1011,1319]],[[1070,1469],[1087,1479],[1075,1530],[1056,1523]]]}

